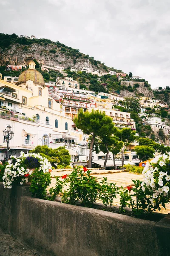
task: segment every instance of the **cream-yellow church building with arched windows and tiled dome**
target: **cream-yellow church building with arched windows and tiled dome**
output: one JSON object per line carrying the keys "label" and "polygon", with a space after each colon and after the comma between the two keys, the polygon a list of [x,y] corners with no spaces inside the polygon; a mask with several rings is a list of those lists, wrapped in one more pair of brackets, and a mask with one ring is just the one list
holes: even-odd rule
{"label": "cream-yellow church building with arched windows and tiled dome", "polygon": [[[8,120],[7,120],[8,119]],[[59,103],[48,96],[48,88],[40,72],[31,61],[16,84],[0,79],[0,126],[2,131],[11,125],[14,138],[10,141],[9,154],[18,155],[37,145],[52,145],[53,135],[65,134],[67,142],[73,142],[73,121],[60,112]],[[82,132],[77,131],[77,142]],[[56,145],[56,144],[55,144]],[[53,148],[57,148],[57,145]],[[6,140],[0,133],[1,158],[4,158]],[[3,149],[4,148],[4,149]],[[3,156],[2,156],[3,155]]]}

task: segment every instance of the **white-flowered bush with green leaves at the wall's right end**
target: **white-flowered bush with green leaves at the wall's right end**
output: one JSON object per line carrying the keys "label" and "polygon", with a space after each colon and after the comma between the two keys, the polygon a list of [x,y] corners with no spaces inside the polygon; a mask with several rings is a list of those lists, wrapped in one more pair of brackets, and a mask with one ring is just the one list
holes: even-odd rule
{"label": "white-flowered bush with green leaves at the wall's right end", "polygon": [[147,162],[142,174],[144,181],[132,180],[132,186],[122,188],[121,212],[128,206],[135,215],[149,215],[170,202],[170,152]]}

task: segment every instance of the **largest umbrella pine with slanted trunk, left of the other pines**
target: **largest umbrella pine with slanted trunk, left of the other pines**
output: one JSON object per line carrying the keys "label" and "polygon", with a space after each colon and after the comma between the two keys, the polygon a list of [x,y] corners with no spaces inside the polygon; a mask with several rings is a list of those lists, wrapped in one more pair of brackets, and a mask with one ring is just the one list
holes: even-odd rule
{"label": "largest umbrella pine with slanted trunk, left of the other pines", "polygon": [[88,168],[91,168],[91,157],[96,137],[105,136],[108,126],[111,126],[113,120],[110,116],[106,116],[105,112],[92,110],[91,112],[83,112],[80,109],[78,116],[74,118],[74,123],[78,129],[81,129],[85,134],[91,135],[91,143],[89,150]]}

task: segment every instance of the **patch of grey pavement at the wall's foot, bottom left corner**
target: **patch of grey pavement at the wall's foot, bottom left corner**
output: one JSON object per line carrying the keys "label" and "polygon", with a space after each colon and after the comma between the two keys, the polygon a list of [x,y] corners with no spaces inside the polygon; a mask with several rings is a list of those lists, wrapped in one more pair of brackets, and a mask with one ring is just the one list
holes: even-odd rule
{"label": "patch of grey pavement at the wall's foot, bottom left corner", "polygon": [[[0,256],[42,256],[0,230]],[[45,255],[44,255],[45,256]]]}

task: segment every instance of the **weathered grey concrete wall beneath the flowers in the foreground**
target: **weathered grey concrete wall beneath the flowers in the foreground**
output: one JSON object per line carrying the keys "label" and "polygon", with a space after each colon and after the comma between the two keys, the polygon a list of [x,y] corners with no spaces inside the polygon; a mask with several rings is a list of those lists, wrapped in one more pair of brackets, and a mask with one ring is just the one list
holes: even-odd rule
{"label": "weathered grey concrete wall beneath the flowers in the foreground", "polygon": [[170,222],[31,198],[29,188],[3,189],[0,227],[48,256],[168,256]]}

